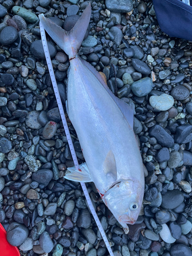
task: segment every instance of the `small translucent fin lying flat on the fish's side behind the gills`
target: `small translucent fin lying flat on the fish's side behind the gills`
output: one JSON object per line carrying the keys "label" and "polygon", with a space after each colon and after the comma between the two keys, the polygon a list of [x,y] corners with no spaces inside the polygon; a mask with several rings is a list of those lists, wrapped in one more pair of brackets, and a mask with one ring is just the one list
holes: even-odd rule
{"label": "small translucent fin lying flat on the fish's side behind the gills", "polygon": [[106,158],[103,163],[103,170],[106,176],[112,178],[114,181],[117,179],[117,166],[115,162],[115,157],[110,150],[108,154],[106,155]]}

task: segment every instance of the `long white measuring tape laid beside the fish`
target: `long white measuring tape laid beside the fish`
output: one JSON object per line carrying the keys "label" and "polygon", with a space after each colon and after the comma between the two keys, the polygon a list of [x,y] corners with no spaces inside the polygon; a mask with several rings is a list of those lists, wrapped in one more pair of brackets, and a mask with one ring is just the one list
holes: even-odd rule
{"label": "long white measuring tape laid beside the fish", "polygon": [[[41,39],[42,39],[42,46],[44,47],[44,52],[45,52],[45,56],[46,56],[46,60],[47,60],[47,66],[48,66],[49,74],[50,74],[51,81],[52,81],[52,84],[53,84],[53,89],[54,89],[54,92],[55,92],[55,97],[56,97],[56,100],[57,100],[57,104],[58,104],[61,120],[62,120],[62,123],[63,123],[63,127],[65,129],[66,137],[68,139],[68,143],[69,143],[70,151],[71,151],[71,154],[72,154],[72,157],[73,157],[73,161],[74,161],[74,164],[75,164],[75,168],[78,170],[79,164],[78,164],[77,156],[75,154],[75,150],[74,150],[74,147],[73,147],[73,142],[71,140],[71,136],[70,136],[70,132],[69,132],[66,116],[65,116],[65,113],[64,113],[63,108],[62,108],[62,103],[61,103],[61,99],[60,99],[60,95],[59,95],[59,90],[58,90],[58,87],[57,87],[57,82],[56,82],[56,79],[55,79],[55,74],[54,74],[54,71],[53,71],[53,66],[52,66],[52,63],[51,63],[51,57],[50,57],[49,49],[48,49],[48,45],[47,45],[45,29],[44,29],[44,27],[42,26],[41,23],[39,23],[39,27],[40,27],[40,35],[41,35]],[[109,244],[109,241],[106,238],[105,232],[104,232],[104,230],[102,228],[102,225],[101,225],[101,223],[99,221],[99,218],[98,218],[98,216],[96,214],[96,211],[95,211],[95,209],[93,207],[93,204],[91,202],[91,199],[90,199],[90,196],[89,196],[86,184],[84,184],[84,182],[81,182],[81,187],[82,187],[84,196],[87,199],[87,202],[88,202],[88,205],[89,205],[90,210],[92,212],[92,215],[93,215],[93,217],[95,219],[95,222],[97,223],[97,226],[99,228],[101,236],[102,236],[102,238],[103,238],[103,240],[105,242],[106,248],[108,248],[108,251],[109,251],[110,255],[114,256],[113,251],[111,249],[111,246]]]}

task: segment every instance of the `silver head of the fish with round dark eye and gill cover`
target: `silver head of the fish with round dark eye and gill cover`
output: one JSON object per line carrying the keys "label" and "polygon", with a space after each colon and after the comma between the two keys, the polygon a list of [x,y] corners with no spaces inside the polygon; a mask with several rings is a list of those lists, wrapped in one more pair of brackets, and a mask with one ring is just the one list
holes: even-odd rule
{"label": "silver head of the fish with round dark eye and gill cover", "polygon": [[103,201],[122,227],[133,225],[139,216],[144,185],[138,180],[120,180],[104,194]]}

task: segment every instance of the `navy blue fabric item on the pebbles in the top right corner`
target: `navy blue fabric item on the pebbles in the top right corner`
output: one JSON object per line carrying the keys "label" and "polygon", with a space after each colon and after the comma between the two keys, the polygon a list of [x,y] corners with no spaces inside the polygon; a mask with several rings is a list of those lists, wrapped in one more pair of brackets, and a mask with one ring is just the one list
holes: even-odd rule
{"label": "navy blue fabric item on the pebbles in the top right corner", "polygon": [[153,4],[163,32],[170,37],[192,41],[192,6],[180,0],[153,0]]}

